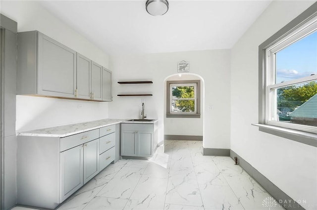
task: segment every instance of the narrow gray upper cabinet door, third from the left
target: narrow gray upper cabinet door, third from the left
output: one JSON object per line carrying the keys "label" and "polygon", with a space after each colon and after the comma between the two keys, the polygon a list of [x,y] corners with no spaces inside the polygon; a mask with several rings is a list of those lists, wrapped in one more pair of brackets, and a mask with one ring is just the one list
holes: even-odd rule
{"label": "narrow gray upper cabinet door, third from the left", "polygon": [[91,91],[92,99],[102,100],[103,67],[94,61],[91,65]]}

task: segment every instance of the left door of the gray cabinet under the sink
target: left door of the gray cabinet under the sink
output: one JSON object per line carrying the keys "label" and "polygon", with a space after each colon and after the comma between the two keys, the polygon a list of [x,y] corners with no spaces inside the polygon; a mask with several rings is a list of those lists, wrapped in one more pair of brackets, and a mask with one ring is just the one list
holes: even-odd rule
{"label": "left door of the gray cabinet under the sink", "polygon": [[136,131],[122,130],[121,132],[121,155],[137,156]]}

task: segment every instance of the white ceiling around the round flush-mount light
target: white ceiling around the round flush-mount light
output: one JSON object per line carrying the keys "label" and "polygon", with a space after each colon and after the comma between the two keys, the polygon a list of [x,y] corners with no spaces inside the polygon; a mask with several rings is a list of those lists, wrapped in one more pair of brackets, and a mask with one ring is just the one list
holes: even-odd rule
{"label": "white ceiling around the round flush-mount light", "polygon": [[163,16],[146,0],[39,2],[112,55],[231,48],[271,0],[169,0]]}

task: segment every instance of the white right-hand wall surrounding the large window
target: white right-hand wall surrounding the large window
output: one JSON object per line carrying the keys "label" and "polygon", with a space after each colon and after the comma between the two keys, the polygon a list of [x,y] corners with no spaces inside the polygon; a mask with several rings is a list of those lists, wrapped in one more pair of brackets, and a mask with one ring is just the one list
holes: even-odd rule
{"label": "white right-hand wall surrounding the large window", "polygon": [[258,47],[315,1],[273,1],[231,52],[231,150],[294,200],[317,208],[317,148],[260,132]]}

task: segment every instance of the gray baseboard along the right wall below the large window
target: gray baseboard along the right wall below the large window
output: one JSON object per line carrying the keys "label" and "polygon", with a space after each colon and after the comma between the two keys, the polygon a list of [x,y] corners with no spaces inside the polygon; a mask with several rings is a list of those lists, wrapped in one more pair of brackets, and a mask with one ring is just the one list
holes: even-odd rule
{"label": "gray baseboard along the right wall below the large window", "polygon": [[234,157],[238,158],[238,164],[252,176],[276,201],[286,210],[305,210],[300,204],[294,201],[270,180],[268,180],[262,173],[256,168],[253,168],[247,161],[241,158],[237,153],[230,150],[230,157],[234,160]]}

